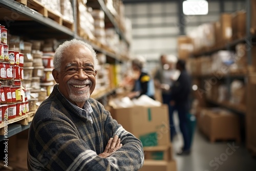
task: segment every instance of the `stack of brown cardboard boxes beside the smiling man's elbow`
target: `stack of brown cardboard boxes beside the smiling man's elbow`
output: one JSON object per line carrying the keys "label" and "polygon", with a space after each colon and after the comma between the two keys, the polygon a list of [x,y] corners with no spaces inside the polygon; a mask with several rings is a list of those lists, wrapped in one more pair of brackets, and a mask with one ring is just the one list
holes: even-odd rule
{"label": "stack of brown cardboard boxes beside the smiling man's elbow", "polygon": [[112,108],[111,115],[141,140],[145,161],[140,170],[177,170],[170,142],[167,105]]}

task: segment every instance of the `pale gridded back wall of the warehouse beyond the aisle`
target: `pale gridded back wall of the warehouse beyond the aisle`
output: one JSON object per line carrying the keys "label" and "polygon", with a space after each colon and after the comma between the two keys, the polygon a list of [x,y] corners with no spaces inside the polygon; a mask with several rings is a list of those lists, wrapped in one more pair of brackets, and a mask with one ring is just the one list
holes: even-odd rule
{"label": "pale gridded back wall of the warehouse beyond the aisle", "polygon": [[[245,9],[245,1],[208,1],[207,15],[186,16],[179,1],[129,3],[124,1],[125,16],[132,23],[131,54],[143,55],[146,68],[154,70],[161,54],[177,56],[177,37],[188,34],[199,25],[219,20],[223,12]],[[182,9],[182,8],[181,8]]]}

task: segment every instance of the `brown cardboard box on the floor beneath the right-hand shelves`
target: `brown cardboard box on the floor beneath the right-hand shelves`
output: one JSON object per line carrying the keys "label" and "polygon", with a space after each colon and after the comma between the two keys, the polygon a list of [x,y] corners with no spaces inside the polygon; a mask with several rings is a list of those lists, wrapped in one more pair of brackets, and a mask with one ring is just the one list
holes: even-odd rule
{"label": "brown cardboard box on the floor beneath the right-hand shelves", "polygon": [[219,108],[212,108],[203,112],[199,121],[200,128],[210,139],[210,142],[235,139],[240,143],[240,121],[237,114]]}

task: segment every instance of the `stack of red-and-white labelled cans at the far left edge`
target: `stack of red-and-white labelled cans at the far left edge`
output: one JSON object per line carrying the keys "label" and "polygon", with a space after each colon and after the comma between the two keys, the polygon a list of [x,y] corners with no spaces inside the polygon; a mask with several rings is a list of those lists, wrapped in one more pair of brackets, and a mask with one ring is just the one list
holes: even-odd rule
{"label": "stack of red-and-white labelled cans at the far left edge", "polygon": [[21,81],[23,79],[23,53],[7,45],[7,29],[1,26],[0,44],[0,113],[1,121],[13,119],[27,113],[22,106]]}

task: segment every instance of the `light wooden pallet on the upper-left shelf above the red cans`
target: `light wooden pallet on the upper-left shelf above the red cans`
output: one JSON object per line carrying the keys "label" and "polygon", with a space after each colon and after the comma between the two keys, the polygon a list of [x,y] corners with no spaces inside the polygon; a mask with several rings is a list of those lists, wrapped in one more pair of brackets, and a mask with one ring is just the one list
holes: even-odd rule
{"label": "light wooden pallet on the upper-left shelf above the red cans", "polygon": [[45,17],[48,17],[55,22],[57,22],[59,25],[65,26],[69,28],[70,30],[74,31],[74,23],[70,22],[67,19],[63,19],[61,14],[58,14],[54,12],[53,10],[45,7],[43,4],[39,3],[36,0],[16,0],[16,2],[23,4],[38,13],[42,14]]}

